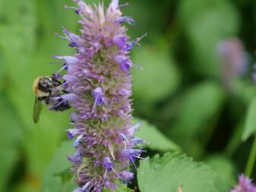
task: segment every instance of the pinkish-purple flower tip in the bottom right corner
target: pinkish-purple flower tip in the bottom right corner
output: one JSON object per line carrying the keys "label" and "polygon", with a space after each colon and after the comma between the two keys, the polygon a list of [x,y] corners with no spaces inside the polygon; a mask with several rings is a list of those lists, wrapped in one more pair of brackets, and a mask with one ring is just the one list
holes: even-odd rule
{"label": "pinkish-purple flower tip in the bottom right corner", "polygon": [[242,174],[239,176],[239,184],[230,192],[256,192],[256,185],[251,182],[250,178]]}

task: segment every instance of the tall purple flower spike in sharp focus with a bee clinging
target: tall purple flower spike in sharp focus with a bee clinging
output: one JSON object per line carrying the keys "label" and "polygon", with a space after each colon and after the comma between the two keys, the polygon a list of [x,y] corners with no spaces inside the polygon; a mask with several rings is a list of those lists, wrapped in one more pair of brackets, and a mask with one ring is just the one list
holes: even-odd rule
{"label": "tall purple flower spike in sharp focus with a bee clinging", "polygon": [[[129,41],[123,23],[134,24],[131,17],[122,16],[119,0],[109,8],[103,4],[90,6],[74,0],[71,8],[81,17],[80,34],[62,27],[62,39],[75,49],[74,55],[54,56],[64,60],[58,73],[63,82],[63,94],[51,98],[52,109],[70,105],[71,128],[68,138],[74,139],[76,150],[68,156],[71,172],[77,182],[75,192],[118,190],[119,184],[133,178],[131,162],[140,158],[143,141],[134,138],[141,124],[132,124],[131,73],[129,56],[132,47],[141,40]],[[58,35],[60,36],[60,35]],[[63,64],[63,63],[62,63]],[[57,77],[57,76],[56,76]]]}

